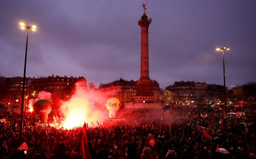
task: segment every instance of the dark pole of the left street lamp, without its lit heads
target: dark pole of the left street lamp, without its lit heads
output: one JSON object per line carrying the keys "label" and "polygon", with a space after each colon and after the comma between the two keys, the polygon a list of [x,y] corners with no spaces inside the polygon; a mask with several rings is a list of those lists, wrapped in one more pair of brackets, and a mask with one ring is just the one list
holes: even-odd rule
{"label": "dark pole of the left street lamp, without its lit heads", "polygon": [[[27,28],[29,31],[29,28]],[[25,78],[26,78],[26,63],[27,63],[27,49],[28,49],[28,32],[27,32],[27,44],[25,53],[25,64],[24,64],[24,76],[23,76],[23,89],[22,89],[22,100],[21,100],[21,113],[20,113],[20,141],[22,143],[22,132],[23,132],[23,108],[24,108],[24,95],[25,95]]]}

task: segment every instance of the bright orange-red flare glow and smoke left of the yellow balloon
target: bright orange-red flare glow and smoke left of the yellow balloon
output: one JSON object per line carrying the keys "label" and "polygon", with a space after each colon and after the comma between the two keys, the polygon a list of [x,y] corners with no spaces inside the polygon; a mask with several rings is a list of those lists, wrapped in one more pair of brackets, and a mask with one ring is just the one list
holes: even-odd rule
{"label": "bright orange-red flare glow and smoke left of the yellow balloon", "polygon": [[[77,85],[80,85],[80,82],[78,83]],[[96,104],[97,99],[100,97],[102,97],[101,92],[76,89],[76,92],[69,101],[62,103],[60,107],[60,111],[64,114],[63,128],[72,129],[73,127],[80,127],[84,122],[88,123],[89,127],[91,127],[92,124],[90,123],[92,121],[94,127],[98,126],[97,121],[102,125],[103,120],[108,119],[108,110],[103,102],[101,106],[99,102]]]}

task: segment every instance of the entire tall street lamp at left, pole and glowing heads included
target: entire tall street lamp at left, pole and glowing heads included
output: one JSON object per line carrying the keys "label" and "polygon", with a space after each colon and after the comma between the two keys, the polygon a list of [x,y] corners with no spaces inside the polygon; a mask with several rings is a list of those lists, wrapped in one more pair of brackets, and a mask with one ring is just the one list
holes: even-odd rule
{"label": "entire tall street lamp at left, pole and glowing heads included", "polygon": [[26,43],[26,53],[25,53],[25,64],[24,64],[24,76],[23,76],[23,87],[22,87],[22,101],[21,101],[21,113],[20,113],[20,141],[22,143],[22,129],[23,129],[23,108],[24,108],[24,94],[25,94],[25,78],[26,78],[26,63],[27,63],[27,48],[28,48],[28,31],[29,29],[36,31],[36,25],[32,24],[27,26],[25,22],[20,23],[22,29],[27,29],[27,43]]}

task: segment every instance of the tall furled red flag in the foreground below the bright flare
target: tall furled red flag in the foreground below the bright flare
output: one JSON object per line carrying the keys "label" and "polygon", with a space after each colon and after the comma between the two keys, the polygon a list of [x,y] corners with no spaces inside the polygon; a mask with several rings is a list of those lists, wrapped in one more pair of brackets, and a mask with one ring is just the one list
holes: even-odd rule
{"label": "tall furled red flag in the foreground below the bright flare", "polygon": [[86,132],[86,124],[84,122],[82,129],[82,141],[81,141],[82,155],[83,159],[90,159],[91,155],[89,152],[88,142],[87,142],[87,132]]}

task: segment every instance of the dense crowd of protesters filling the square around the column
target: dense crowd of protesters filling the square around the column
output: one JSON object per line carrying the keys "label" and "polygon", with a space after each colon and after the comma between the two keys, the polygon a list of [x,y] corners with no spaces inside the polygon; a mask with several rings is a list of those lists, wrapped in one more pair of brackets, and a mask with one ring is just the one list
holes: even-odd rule
{"label": "dense crowd of protesters filling the square around the column", "polygon": [[[256,144],[254,124],[249,127],[240,124],[248,122],[248,117],[255,113],[253,107],[248,109],[246,116],[226,118],[227,124],[223,110],[210,106],[125,111],[122,113],[125,120],[109,120],[104,125],[87,128],[89,152],[92,159],[255,158],[255,152],[247,153],[248,147]],[[23,141],[29,149],[24,153],[17,151],[21,145],[19,114],[1,112],[0,119],[3,118],[10,121],[10,126],[2,124],[0,128],[0,159],[82,157],[81,127],[68,130],[37,125],[38,115],[26,112]],[[229,153],[216,152],[219,149]]]}

